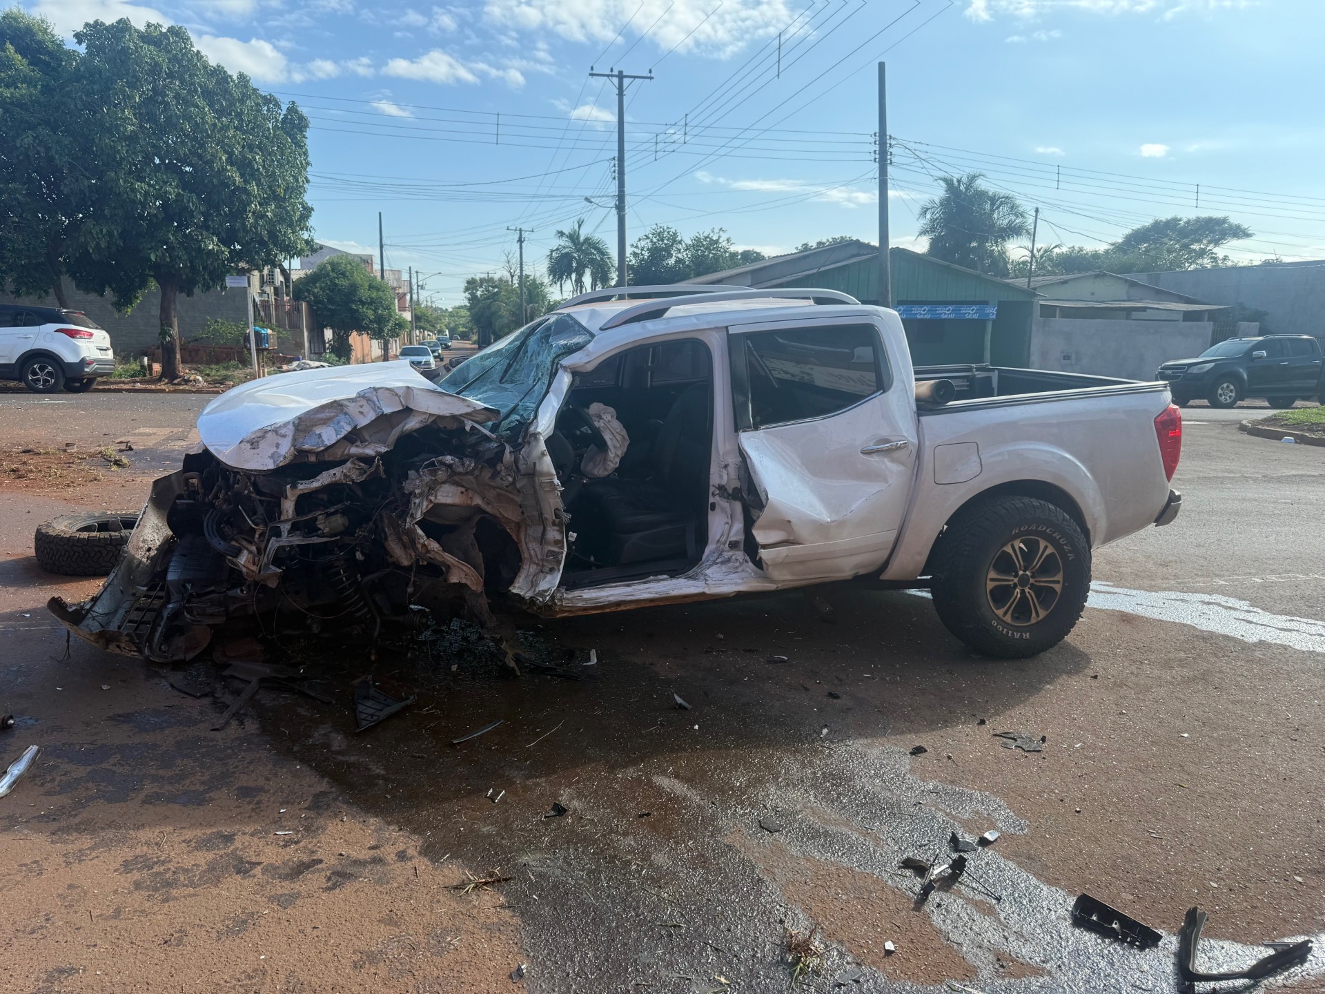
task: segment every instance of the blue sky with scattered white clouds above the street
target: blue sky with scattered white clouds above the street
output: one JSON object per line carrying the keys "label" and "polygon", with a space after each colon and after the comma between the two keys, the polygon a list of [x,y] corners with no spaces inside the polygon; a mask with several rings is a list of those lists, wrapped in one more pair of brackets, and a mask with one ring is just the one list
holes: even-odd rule
{"label": "blue sky with scattered white clouds above the street", "polygon": [[509,227],[535,266],[576,217],[615,249],[616,106],[591,65],[655,74],[628,91],[632,240],[876,240],[885,58],[893,244],[916,245],[935,176],[974,168],[1041,208],[1041,244],[1199,212],[1256,232],[1238,257],[1325,257],[1325,0],[23,3],[66,34],[183,24],[295,99],[317,236],[375,252],[380,209],[387,265],[448,305],[514,252]]}

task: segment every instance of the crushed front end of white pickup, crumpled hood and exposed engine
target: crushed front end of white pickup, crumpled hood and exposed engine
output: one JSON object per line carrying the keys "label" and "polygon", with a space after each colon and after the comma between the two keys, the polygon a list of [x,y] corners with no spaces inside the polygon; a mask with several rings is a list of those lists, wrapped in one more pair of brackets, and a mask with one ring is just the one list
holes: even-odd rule
{"label": "crushed front end of white pickup, crumpled hood and exposed engine", "polygon": [[485,614],[494,570],[504,590],[546,573],[555,518],[539,436],[513,448],[482,427],[498,416],[407,363],[232,390],[199,417],[204,448],[152,485],[101,591],[49,608],[101,648],[159,663],[245,619],[375,635],[429,591]]}

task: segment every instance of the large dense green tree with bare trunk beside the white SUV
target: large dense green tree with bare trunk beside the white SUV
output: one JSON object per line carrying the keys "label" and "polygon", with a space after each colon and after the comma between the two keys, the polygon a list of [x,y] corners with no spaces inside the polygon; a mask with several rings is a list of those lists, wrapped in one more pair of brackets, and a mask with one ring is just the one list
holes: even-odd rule
{"label": "large dense green tree with bare trunk beside the white SUV", "polygon": [[[76,282],[132,307],[160,289],[162,376],[179,372],[180,293],[313,250],[309,121],[212,65],[180,27],[91,21],[70,127],[97,196]],[[306,277],[307,278],[307,277]]]}

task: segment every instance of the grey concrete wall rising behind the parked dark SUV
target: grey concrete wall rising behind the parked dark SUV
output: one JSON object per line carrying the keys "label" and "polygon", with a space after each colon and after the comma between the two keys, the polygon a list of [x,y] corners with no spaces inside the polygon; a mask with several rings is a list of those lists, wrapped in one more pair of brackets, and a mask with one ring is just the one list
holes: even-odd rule
{"label": "grey concrete wall rising behind the parked dark SUV", "polygon": [[1265,311],[1263,334],[1325,338],[1325,260],[1263,266],[1220,266],[1179,273],[1133,273],[1133,280],[1210,304]]}

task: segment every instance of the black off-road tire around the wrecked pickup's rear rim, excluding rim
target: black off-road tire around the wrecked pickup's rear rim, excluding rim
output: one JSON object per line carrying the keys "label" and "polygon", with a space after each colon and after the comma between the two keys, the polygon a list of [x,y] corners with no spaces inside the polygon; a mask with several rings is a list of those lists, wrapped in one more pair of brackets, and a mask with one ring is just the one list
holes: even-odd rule
{"label": "black off-road tire around the wrecked pickup's rear rim, excluding rim", "polygon": [[[983,624],[978,604],[973,603],[971,592],[975,584],[965,571],[969,571],[973,563],[979,563],[977,569],[982,571],[983,578],[982,558],[988,537],[991,534],[1007,537],[1014,527],[1027,520],[1052,524],[1076,545],[1085,563],[1085,579],[1076,591],[1069,591],[1071,584],[1064,583],[1059,603],[1055,604],[1051,616],[1041,623],[1044,627],[1036,626],[1028,640],[1012,641]],[[1081,526],[1061,508],[1035,497],[991,497],[950,524],[939,542],[930,584],[934,610],[943,627],[977,652],[998,659],[1036,656],[1063,641],[1081,619],[1090,592],[1090,545]]]}

